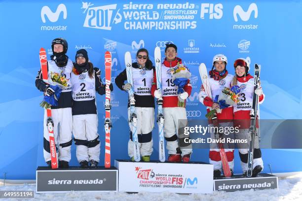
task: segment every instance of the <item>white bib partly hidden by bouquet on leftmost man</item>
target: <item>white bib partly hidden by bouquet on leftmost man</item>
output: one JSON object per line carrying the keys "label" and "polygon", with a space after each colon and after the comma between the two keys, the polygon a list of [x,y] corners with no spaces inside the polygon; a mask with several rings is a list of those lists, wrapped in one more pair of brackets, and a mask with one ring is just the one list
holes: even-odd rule
{"label": "white bib partly hidden by bouquet on leftmost man", "polygon": [[74,67],[73,62],[70,59],[68,60],[66,67],[58,67],[54,61],[52,60],[48,61],[48,76],[50,76],[50,72],[57,72],[60,74],[63,71],[66,79],[68,79],[67,82],[68,85],[64,90],[62,90],[62,92],[70,92],[72,90],[70,76],[73,67]]}

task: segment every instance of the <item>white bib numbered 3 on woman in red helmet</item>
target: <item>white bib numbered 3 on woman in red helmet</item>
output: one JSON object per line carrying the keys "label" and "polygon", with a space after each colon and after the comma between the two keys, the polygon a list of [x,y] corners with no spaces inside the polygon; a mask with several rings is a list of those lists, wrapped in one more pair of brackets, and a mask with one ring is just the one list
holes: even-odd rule
{"label": "white bib numbered 3 on woman in red helmet", "polygon": [[234,105],[234,112],[251,110],[253,106],[254,78],[244,83],[237,81],[237,85],[240,87],[240,101]]}

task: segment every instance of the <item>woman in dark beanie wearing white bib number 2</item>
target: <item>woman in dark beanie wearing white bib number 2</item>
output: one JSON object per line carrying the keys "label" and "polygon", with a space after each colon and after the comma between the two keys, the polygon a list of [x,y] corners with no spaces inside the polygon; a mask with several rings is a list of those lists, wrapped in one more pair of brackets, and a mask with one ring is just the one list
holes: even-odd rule
{"label": "woman in dark beanie wearing white bib number 2", "polygon": [[[100,141],[96,94],[105,94],[101,81],[101,70],[93,67],[85,49],[76,52],[76,63],[71,73],[73,87],[73,134],[76,144],[76,158],[80,167],[97,167],[100,162]],[[113,91],[113,85],[110,85]]]}

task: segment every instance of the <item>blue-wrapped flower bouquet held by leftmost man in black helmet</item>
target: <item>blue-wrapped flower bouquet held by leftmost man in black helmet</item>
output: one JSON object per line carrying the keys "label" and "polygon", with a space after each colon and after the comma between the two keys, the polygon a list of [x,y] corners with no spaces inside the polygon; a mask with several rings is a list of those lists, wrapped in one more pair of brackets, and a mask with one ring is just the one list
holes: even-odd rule
{"label": "blue-wrapped flower bouquet held by leftmost man in black helmet", "polygon": [[55,93],[51,96],[44,96],[43,101],[40,103],[40,106],[47,109],[51,107],[51,105],[57,106],[58,100],[61,96],[62,89],[68,86],[68,80],[66,79],[63,71],[61,73],[58,72],[50,72],[50,76],[48,77],[48,84]]}

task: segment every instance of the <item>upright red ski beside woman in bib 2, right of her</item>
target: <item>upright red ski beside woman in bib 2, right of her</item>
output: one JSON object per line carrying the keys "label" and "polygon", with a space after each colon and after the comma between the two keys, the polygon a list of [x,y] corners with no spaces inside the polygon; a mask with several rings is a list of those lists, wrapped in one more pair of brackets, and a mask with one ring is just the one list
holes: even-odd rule
{"label": "upright red ski beside woman in bib 2, right of her", "polygon": [[111,67],[112,67],[112,58],[109,51],[105,52],[105,83],[106,83],[106,96],[105,96],[105,167],[111,167],[111,154],[110,154],[110,131],[112,128],[110,110],[110,84],[111,84]]}

